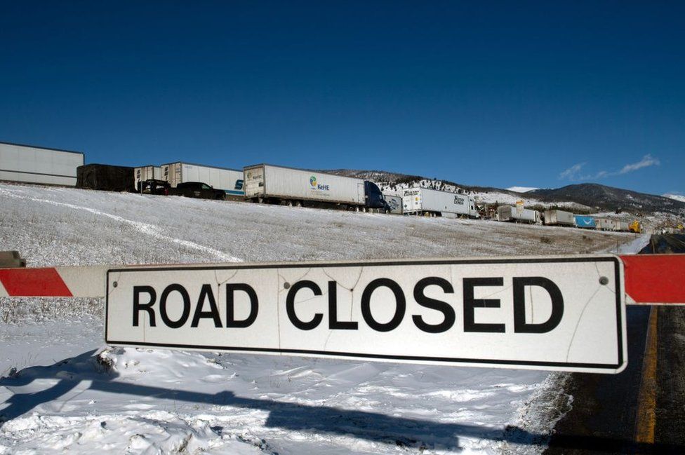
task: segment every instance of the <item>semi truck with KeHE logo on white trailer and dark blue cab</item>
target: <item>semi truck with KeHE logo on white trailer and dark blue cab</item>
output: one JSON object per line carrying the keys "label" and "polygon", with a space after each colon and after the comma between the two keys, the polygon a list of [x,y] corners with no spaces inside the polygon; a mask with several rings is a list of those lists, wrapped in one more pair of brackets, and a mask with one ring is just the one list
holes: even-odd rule
{"label": "semi truck with KeHE logo on white trailer and dark blue cab", "polygon": [[246,166],[243,172],[251,202],[390,212],[380,188],[363,179],[270,164]]}

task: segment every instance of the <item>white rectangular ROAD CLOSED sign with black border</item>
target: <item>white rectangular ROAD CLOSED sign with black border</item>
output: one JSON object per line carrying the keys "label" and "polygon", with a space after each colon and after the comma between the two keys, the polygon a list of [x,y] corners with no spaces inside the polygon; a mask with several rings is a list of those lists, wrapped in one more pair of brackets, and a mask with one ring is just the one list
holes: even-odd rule
{"label": "white rectangular ROAD CLOSED sign with black border", "polygon": [[618,373],[623,289],[611,255],[110,269],[105,339]]}

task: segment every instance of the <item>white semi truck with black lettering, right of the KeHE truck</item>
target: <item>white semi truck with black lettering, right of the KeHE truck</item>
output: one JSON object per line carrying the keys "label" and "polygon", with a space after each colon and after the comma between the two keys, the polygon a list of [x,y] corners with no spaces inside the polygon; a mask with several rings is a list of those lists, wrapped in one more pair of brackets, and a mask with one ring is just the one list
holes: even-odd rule
{"label": "white semi truck with black lettering, right of the KeHE truck", "polygon": [[478,218],[474,199],[465,194],[428,188],[408,188],[402,196],[404,215]]}

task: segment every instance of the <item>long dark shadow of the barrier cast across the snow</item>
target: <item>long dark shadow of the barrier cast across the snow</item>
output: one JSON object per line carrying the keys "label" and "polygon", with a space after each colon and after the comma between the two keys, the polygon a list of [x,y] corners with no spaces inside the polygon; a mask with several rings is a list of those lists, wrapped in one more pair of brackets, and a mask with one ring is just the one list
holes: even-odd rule
{"label": "long dark shadow of the barrier cast across the snow", "polygon": [[[14,393],[3,403],[6,407],[0,411],[0,425],[30,412],[39,405],[60,400],[60,397],[77,388],[82,381],[91,381],[91,385],[84,390],[201,403],[217,407],[260,409],[270,413],[264,424],[267,428],[352,435],[364,440],[406,447],[460,450],[459,437],[475,437],[513,444],[546,444],[549,437],[544,434],[531,433],[517,426],[492,428],[468,423],[440,423],[388,416],[376,412],[240,398],[230,391],[211,394],[140,386],[135,383],[115,381],[119,375],[116,372],[107,371],[107,367],[100,365],[97,359],[95,350],[92,350],[48,367],[28,367],[9,377],[0,378],[0,386],[8,388],[27,386],[36,379],[54,382],[52,386],[39,392]],[[217,411],[221,410],[217,409]],[[213,428],[219,433],[222,430],[221,427]],[[607,452],[637,451],[641,454],[685,451],[685,447],[672,447],[665,444],[637,444],[630,440],[574,435],[557,439],[556,445],[568,449]]]}

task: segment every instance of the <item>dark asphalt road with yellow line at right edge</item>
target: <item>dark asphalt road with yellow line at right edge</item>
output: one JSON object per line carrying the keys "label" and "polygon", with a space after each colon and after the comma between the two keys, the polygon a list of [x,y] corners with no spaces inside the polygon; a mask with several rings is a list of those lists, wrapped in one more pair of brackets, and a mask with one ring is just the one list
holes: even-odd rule
{"label": "dark asphalt road with yellow line at right edge", "polygon": [[[685,252],[685,236],[653,236],[643,250],[652,252]],[[685,307],[628,306],[626,315],[627,368],[573,374],[573,409],[545,454],[685,454]]]}

